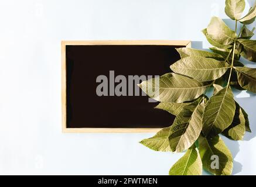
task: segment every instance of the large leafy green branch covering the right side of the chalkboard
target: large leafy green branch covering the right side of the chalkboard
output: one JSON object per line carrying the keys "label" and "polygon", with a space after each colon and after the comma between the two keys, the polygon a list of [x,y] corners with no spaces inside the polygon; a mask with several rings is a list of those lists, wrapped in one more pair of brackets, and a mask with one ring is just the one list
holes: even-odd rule
{"label": "large leafy green branch covering the right side of the chalkboard", "polygon": [[[235,20],[235,30],[220,18],[211,19],[203,33],[214,46],[210,48],[213,53],[179,48],[181,59],[170,65],[172,73],[139,85],[149,97],[161,102],[156,108],[176,115],[172,126],[141,141],[155,151],[187,150],[169,175],[202,175],[202,168],[215,175],[232,174],[233,157],[219,134],[243,140],[245,131],[251,130],[248,115],[234,101],[231,86],[256,93],[256,68],[239,61],[243,56],[256,63],[256,40],[250,40],[254,29],[245,26],[254,22],[256,4],[241,18],[244,9],[245,0],[226,0],[225,12]],[[243,24],[239,32],[238,22]],[[212,85],[213,95],[207,98]],[[212,155],[220,159],[218,169],[211,168]]]}

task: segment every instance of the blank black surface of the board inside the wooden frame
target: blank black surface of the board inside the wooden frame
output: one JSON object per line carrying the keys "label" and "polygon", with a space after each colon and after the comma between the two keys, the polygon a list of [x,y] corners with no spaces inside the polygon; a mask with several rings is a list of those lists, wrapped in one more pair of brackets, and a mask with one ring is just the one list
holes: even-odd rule
{"label": "blank black surface of the board inside the wooden frame", "polygon": [[[175,116],[148,96],[98,96],[98,75],[163,75],[180,59],[168,45],[66,46],[66,128],[161,128]],[[117,85],[116,83],[115,85]],[[109,92],[109,91],[108,91]]]}

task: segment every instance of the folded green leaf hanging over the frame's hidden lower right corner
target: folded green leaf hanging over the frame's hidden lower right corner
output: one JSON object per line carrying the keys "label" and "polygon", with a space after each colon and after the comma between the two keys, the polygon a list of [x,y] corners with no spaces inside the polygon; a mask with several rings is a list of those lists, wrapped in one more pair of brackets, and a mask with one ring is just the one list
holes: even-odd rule
{"label": "folded green leaf hanging over the frame's hidden lower right corner", "polygon": [[170,150],[182,152],[194,144],[202,131],[203,110],[204,101],[197,106],[183,108],[170,126]]}

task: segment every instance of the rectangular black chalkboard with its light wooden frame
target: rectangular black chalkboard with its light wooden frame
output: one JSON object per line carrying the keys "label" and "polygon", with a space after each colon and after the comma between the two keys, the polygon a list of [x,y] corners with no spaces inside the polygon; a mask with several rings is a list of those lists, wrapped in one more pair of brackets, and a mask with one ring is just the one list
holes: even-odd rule
{"label": "rectangular black chalkboard with its light wooden frame", "polygon": [[175,48],[189,45],[62,41],[63,132],[153,132],[170,126],[175,116],[154,109],[158,102],[136,91],[136,84],[170,72],[180,59]]}

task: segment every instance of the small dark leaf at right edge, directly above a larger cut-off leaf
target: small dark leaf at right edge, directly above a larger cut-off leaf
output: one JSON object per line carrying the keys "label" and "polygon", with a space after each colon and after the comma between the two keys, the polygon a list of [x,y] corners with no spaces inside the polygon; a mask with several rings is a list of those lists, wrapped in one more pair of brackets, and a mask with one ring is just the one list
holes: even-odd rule
{"label": "small dark leaf at right edge, directly above a larger cut-off leaf", "polygon": [[256,62],[256,40],[238,39],[238,41],[243,45],[241,56]]}

